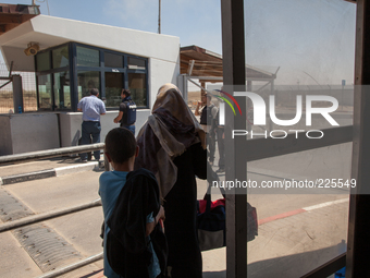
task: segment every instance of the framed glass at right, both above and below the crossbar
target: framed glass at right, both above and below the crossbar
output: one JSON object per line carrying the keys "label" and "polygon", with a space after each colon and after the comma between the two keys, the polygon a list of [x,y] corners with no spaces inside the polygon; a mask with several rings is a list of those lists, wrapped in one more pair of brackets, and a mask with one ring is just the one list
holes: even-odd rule
{"label": "framed glass at right, both above and below the crossbar", "polygon": [[[268,142],[257,153],[299,146],[298,132],[320,143],[326,129],[351,125],[356,4],[248,0],[244,9],[245,149],[256,140]],[[248,277],[301,277],[346,251],[350,162],[346,143],[247,164],[259,222]]]}

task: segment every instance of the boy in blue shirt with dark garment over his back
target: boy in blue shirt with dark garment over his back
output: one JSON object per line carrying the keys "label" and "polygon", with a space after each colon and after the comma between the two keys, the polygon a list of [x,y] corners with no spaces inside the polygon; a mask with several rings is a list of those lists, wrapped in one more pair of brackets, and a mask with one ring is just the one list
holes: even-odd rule
{"label": "boy in blue shirt with dark garment over his back", "polygon": [[[152,234],[155,228],[160,229],[159,220],[164,219],[157,180],[148,170],[133,171],[138,146],[127,129],[116,128],[107,134],[104,154],[114,169],[99,179],[106,227],[104,275],[156,278],[164,269],[155,250],[155,240],[162,233]],[[161,255],[162,250],[159,252]]]}

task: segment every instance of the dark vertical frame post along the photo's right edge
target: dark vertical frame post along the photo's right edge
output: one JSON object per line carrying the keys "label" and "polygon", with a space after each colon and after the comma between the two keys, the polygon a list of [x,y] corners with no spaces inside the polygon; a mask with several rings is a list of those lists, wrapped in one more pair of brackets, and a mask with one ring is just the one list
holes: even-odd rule
{"label": "dark vertical frame post along the photo's right edge", "polygon": [[370,277],[370,2],[357,1],[354,144],[351,178],[357,188],[351,189],[348,219],[346,277]]}

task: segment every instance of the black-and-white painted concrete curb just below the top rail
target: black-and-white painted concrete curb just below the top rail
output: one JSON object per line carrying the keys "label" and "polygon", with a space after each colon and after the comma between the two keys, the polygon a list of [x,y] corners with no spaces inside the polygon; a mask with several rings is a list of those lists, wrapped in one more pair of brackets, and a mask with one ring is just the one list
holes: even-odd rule
{"label": "black-and-white painted concrete curb just below the top rail", "polygon": [[52,178],[52,177],[61,177],[61,176],[69,174],[69,173],[91,171],[94,169],[97,169],[98,167],[99,167],[98,161],[91,161],[87,164],[47,169],[42,171],[0,177],[0,185],[9,185],[9,184],[14,184],[18,182],[40,180],[40,179],[47,179],[47,178]]}

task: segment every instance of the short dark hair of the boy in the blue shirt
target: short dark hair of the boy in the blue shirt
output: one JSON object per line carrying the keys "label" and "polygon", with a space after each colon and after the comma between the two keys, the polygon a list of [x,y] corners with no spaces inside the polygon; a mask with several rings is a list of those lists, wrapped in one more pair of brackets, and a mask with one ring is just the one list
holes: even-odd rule
{"label": "short dark hair of the boy in the blue shirt", "polygon": [[136,152],[134,134],[125,128],[115,128],[106,136],[106,152],[115,164],[123,164]]}

